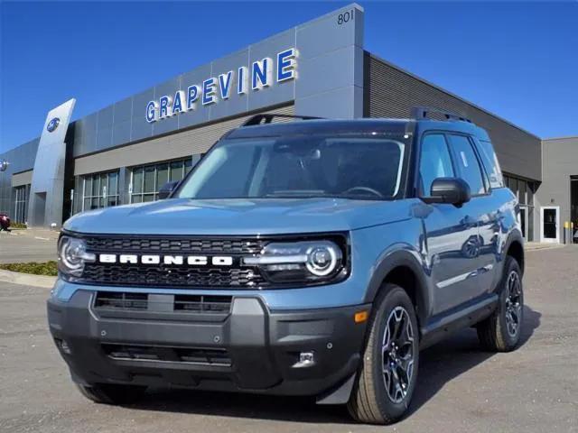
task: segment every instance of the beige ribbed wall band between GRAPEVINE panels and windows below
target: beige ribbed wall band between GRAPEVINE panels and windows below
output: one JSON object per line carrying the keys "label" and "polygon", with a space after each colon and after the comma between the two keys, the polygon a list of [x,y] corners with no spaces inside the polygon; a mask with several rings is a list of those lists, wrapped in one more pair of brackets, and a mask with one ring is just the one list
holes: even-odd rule
{"label": "beige ribbed wall band between GRAPEVINE panels and windows below", "polygon": [[[275,110],[267,110],[266,112],[293,115],[294,106],[284,106]],[[74,161],[74,175],[79,176],[120,167],[167,161],[207,152],[210,146],[219,140],[221,135],[242,124],[247,117],[247,115],[235,117],[181,133],[169,134],[141,143],[117,147],[110,151],[77,158]]]}

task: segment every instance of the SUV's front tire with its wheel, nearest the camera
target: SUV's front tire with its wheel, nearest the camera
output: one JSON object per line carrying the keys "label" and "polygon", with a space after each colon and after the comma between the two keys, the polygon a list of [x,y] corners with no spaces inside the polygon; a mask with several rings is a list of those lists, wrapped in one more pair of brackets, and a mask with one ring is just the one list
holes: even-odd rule
{"label": "SUV's front tire with its wheel, nearest the camera", "polygon": [[[400,317],[401,319],[397,320]],[[405,329],[405,343],[403,338],[396,338],[394,326],[397,323],[399,328],[402,324],[407,326],[407,323],[411,326]],[[396,341],[400,343],[397,344]],[[384,343],[388,347],[385,351]],[[411,364],[406,355],[411,355]],[[384,368],[384,359],[387,360],[387,369]],[[414,305],[405,290],[395,284],[386,284],[374,302],[369,319],[363,359],[348,402],[351,417],[368,424],[391,424],[400,419],[406,413],[414,394],[418,362],[419,331]],[[404,374],[404,371],[410,373]],[[387,375],[389,389],[386,384]],[[401,382],[398,382],[399,378]],[[396,383],[402,386],[397,388]],[[391,397],[392,392],[394,398]]]}

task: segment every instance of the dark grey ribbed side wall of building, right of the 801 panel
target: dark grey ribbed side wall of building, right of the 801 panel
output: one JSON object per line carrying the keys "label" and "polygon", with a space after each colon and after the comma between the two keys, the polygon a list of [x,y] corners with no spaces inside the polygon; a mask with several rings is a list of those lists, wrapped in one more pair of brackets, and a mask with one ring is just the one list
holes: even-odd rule
{"label": "dark grey ribbed side wall of building, right of the 801 panel", "polygon": [[366,52],[365,115],[408,117],[412,106],[431,106],[471,118],[488,131],[502,170],[541,180],[540,139]]}

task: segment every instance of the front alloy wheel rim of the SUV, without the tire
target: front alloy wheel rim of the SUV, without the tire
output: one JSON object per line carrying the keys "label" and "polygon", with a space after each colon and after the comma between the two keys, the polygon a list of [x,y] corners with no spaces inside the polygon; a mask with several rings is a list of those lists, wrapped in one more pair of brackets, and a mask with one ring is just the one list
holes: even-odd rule
{"label": "front alloy wheel rim of the SUV, without the tire", "polygon": [[414,373],[414,328],[403,307],[387,318],[382,343],[383,379],[387,396],[394,403],[406,398]]}

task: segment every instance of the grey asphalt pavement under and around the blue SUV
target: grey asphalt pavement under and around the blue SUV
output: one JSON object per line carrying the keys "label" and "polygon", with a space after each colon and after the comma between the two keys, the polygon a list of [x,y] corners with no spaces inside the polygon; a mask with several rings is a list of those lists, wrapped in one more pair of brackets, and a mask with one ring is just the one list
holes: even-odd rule
{"label": "grey asphalt pavement under and around the blue SUV", "polygon": [[[4,239],[3,239],[4,240]],[[0,282],[2,432],[578,431],[578,246],[527,253],[525,330],[511,354],[463,331],[424,351],[410,415],[381,428],[310,400],[151,392],[136,405],[84,400],[48,335],[48,290]]]}

